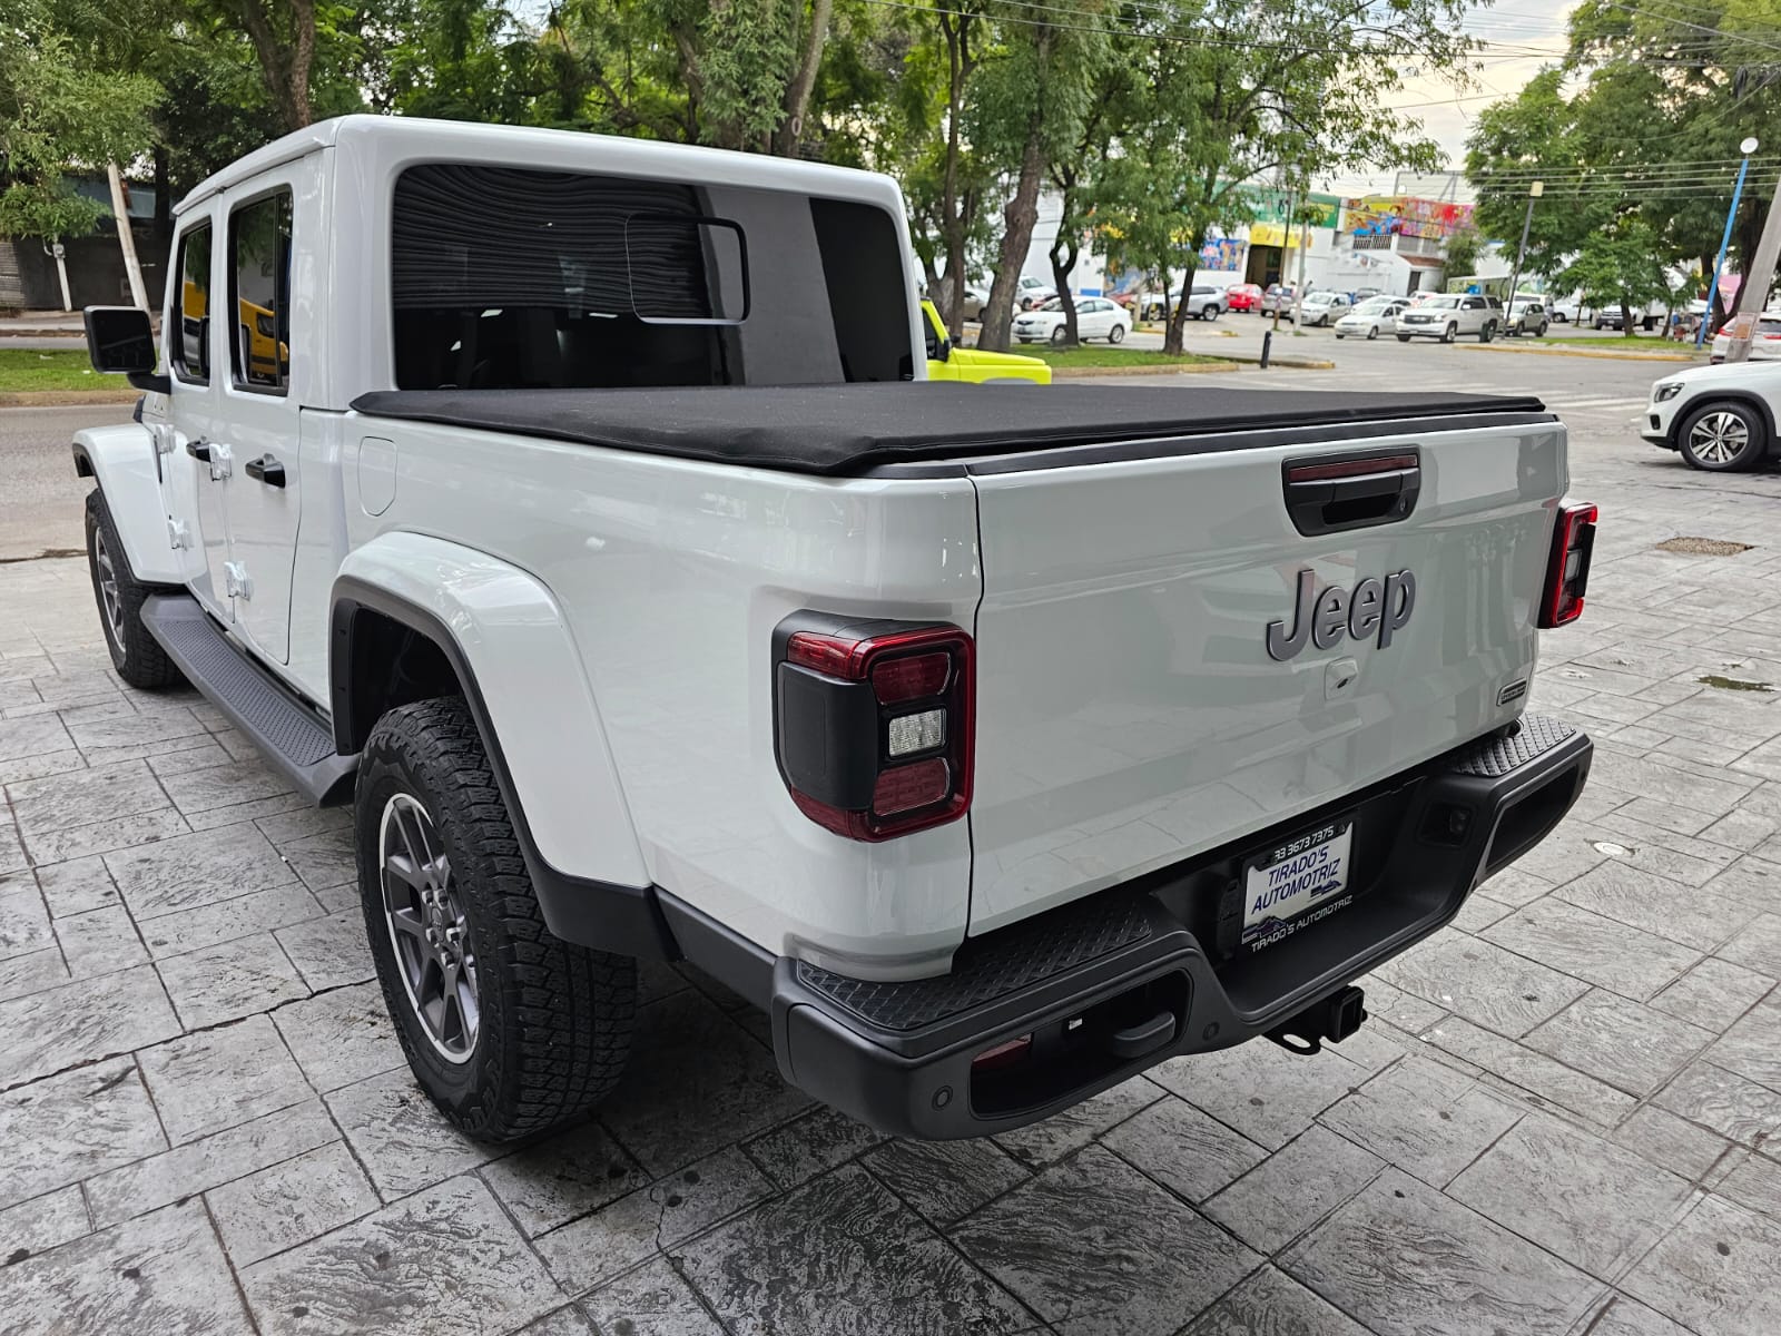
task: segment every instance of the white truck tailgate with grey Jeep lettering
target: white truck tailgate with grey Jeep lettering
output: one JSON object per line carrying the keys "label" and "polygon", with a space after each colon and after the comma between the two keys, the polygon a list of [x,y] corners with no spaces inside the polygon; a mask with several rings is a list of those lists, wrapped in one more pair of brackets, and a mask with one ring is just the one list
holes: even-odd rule
{"label": "white truck tailgate with grey Jeep lettering", "polygon": [[[974,477],[971,932],[1229,844],[1521,713],[1503,697],[1533,672],[1564,428],[1305,436]],[[1357,460],[1371,483],[1346,477]],[[1338,504],[1300,483],[1289,513],[1288,467],[1313,486],[1343,476]],[[1402,518],[1354,495],[1405,483]],[[1346,618],[1330,599],[1320,625],[1329,588]]]}

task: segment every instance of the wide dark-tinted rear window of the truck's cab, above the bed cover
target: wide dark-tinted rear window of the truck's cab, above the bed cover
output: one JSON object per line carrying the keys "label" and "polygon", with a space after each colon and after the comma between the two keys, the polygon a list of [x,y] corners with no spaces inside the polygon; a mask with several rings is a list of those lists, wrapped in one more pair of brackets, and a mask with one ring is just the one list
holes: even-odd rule
{"label": "wide dark-tinted rear window of the truck's cab, above the bed cover", "polygon": [[390,299],[404,390],[914,376],[892,216],[793,192],[410,167]]}

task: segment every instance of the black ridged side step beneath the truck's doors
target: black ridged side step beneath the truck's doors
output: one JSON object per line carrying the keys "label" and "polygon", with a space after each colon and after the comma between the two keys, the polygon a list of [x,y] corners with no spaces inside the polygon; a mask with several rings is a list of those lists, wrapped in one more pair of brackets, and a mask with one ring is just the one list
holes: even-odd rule
{"label": "black ridged side step beneath the truck's doors", "polygon": [[142,625],[185,680],[248,734],[297,793],[324,807],[351,796],[358,757],[335,752],[333,730],[321,716],[235,648],[194,599],[183,593],[144,599]]}

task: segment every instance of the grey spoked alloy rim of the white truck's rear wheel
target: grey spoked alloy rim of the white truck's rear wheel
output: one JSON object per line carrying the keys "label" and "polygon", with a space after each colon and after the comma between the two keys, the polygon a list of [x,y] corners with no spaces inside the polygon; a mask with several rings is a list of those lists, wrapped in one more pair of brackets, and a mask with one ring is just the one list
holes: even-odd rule
{"label": "grey spoked alloy rim of the white truck's rear wheel", "polygon": [[397,793],[383,807],[378,866],[408,1001],[440,1056],[468,1062],[483,1019],[476,955],[445,846],[411,794]]}

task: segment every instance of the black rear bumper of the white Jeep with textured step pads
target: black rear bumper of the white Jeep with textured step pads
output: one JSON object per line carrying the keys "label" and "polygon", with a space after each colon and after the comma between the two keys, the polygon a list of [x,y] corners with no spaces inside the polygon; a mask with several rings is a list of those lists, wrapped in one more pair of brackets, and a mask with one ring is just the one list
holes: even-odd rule
{"label": "black rear bumper of the white Jeep with textured step pads", "polygon": [[[768,983],[736,969],[714,925],[666,896],[664,908],[695,964],[768,1006],[787,1081],[883,1131],[981,1136],[1167,1058],[1265,1035],[1421,941],[1551,832],[1590,752],[1582,730],[1528,716],[1514,737],[1480,739],[1291,827],[972,939],[942,978],[873,983],[755,953],[771,964]],[[1245,857],[1334,816],[1355,821],[1339,908],[1265,948],[1241,944]],[[1024,1058],[974,1071],[987,1049],[1026,1035]]]}

